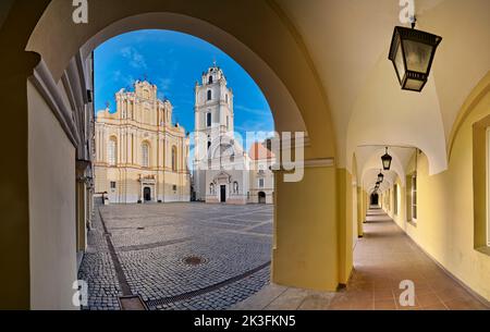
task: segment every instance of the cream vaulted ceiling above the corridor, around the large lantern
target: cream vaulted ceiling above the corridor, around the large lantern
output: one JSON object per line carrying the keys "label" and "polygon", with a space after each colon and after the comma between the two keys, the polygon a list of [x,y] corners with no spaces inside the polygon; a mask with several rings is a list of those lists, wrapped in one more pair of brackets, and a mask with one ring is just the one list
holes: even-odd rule
{"label": "cream vaulted ceiling above the corridor, around the large lantern", "polygon": [[[297,29],[329,98],[340,167],[351,170],[356,152],[360,179],[381,155],[359,146],[391,144],[420,148],[431,174],[446,169],[457,112],[490,69],[490,1],[415,0],[417,28],[443,37],[421,94],[401,90],[388,60],[393,28],[403,25],[397,0],[275,2]],[[396,172],[404,172],[409,152],[395,153]]]}

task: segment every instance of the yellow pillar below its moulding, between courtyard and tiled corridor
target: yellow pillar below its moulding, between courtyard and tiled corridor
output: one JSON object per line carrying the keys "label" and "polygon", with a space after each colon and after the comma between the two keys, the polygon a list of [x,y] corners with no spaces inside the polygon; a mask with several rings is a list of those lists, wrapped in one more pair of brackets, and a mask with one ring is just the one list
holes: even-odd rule
{"label": "yellow pillar below its moulding, between courtyard and tiled corridor", "polygon": [[302,182],[285,183],[275,173],[272,281],[335,291],[339,247],[335,168],[306,168]]}

